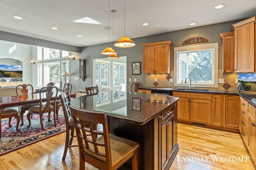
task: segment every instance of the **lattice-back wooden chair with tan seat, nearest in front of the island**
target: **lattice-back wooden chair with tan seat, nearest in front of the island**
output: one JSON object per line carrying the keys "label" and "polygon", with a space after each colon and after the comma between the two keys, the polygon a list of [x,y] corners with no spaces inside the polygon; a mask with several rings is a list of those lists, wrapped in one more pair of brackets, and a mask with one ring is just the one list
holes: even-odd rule
{"label": "lattice-back wooden chair with tan seat, nearest in front of the island", "polygon": [[[76,129],[80,170],[85,169],[85,162],[101,170],[116,170],[130,158],[132,169],[138,170],[138,143],[108,133],[106,113],[84,111],[72,105],[70,111]],[[89,123],[89,128],[83,121]],[[102,124],[102,130],[95,129],[96,123]],[[101,136],[96,138],[96,135]]]}

